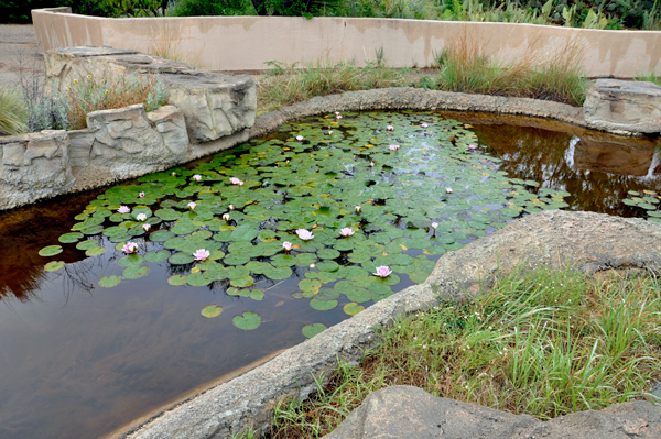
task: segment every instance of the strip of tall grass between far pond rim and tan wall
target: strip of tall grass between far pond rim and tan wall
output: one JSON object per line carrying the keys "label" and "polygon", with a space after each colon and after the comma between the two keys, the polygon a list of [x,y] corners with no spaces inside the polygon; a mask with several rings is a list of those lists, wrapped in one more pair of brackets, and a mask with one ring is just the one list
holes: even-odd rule
{"label": "strip of tall grass between far pond rim and tan wall", "polygon": [[258,87],[257,116],[315,96],[387,87],[419,87],[445,91],[525,97],[582,106],[588,81],[578,68],[574,46],[556,54],[532,53],[516,63],[499,62],[483,54],[464,35],[436,56],[436,70],[392,68],[383,51],[366,67],[354,63],[317,63],[296,68],[277,62]]}

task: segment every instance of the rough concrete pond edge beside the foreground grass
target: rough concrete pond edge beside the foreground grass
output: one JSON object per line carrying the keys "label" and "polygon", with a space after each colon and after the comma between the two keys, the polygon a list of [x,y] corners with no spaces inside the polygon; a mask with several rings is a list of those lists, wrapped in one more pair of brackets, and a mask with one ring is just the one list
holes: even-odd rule
{"label": "rough concrete pond edge beside the foreground grass", "polygon": [[[498,276],[537,266],[585,273],[661,268],[661,227],[641,219],[593,212],[544,211],[442,256],[430,277],[228,382],[175,404],[129,431],[126,439],[227,438],[266,430],[277,403],[305,398],[337,367],[357,364],[378,341],[375,330],[397,318],[463,299]],[[124,429],[126,431],[126,429]]]}

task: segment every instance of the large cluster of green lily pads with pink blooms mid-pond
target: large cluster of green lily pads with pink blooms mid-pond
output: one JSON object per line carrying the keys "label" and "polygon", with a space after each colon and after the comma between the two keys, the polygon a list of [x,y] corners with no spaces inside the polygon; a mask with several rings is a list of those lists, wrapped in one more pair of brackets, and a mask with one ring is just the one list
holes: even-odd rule
{"label": "large cluster of green lily pads with pink blooms mid-pond", "polygon": [[[355,315],[407,277],[424,282],[445,252],[523,212],[567,206],[567,193],[508,179],[499,160],[480,153],[470,128],[421,112],[289,123],[194,168],[108,189],[59,242],[89,257],[116,243],[124,279],[167,262],[178,267],[171,285],[221,283],[228,295],[256,300],[266,287],[296,276],[293,298]],[[138,251],[122,255],[128,242]],[[148,244],[155,250],[147,252]],[[199,250],[208,252],[204,261],[194,257]],[[61,245],[48,245],[40,254],[59,252]],[[392,273],[375,275],[379,266]],[[121,281],[108,276],[99,284]],[[221,311],[210,305],[202,315]],[[247,330],[261,322],[250,312],[232,320]]]}

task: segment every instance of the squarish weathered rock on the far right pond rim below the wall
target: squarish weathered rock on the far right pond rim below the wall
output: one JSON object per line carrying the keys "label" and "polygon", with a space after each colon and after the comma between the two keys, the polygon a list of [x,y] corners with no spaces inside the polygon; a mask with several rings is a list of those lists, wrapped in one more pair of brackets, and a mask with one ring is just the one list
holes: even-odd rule
{"label": "squarish weathered rock on the far right pond rim below the wall", "polygon": [[661,132],[661,87],[653,83],[597,79],[587,91],[585,122],[621,134]]}

